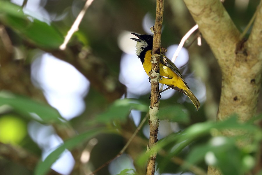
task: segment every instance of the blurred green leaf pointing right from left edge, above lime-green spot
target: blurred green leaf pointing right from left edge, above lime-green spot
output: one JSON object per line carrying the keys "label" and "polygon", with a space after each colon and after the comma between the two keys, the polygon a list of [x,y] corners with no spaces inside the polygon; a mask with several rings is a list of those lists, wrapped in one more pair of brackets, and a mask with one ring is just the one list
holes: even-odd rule
{"label": "blurred green leaf pointing right from left edge, above lime-green spot", "polygon": [[47,104],[41,104],[28,97],[0,92],[0,106],[8,105],[17,113],[45,123],[62,123],[65,120],[59,112]]}

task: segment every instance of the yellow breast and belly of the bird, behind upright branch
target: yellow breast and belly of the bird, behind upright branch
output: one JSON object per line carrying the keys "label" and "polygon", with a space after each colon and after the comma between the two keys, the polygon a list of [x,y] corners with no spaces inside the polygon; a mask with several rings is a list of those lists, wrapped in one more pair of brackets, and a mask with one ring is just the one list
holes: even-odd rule
{"label": "yellow breast and belly of the bird, behind upright branch", "polygon": [[[143,67],[148,75],[148,72],[151,71],[151,51],[146,52]],[[171,79],[162,77],[162,80],[160,78],[159,83],[162,83],[165,85],[174,85],[180,89],[186,88],[185,83],[182,80],[182,78],[180,78],[180,76],[178,76],[174,71],[172,71],[169,67],[165,66],[162,63],[160,63],[160,76],[168,77]]]}

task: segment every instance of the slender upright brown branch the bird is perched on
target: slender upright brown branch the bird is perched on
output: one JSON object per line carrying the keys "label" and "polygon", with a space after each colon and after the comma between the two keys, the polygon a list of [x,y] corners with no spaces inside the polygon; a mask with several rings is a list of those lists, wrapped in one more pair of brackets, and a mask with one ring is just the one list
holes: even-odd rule
{"label": "slender upright brown branch the bird is perched on", "polygon": [[[157,144],[157,130],[159,125],[158,119],[158,109],[159,109],[159,56],[162,52],[160,49],[161,42],[161,31],[162,31],[162,22],[163,22],[163,12],[164,12],[164,0],[157,0],[156,6],[156,17],[155,17],[155,27],[154,30],[154,39],[153,39],[153,51],[152,51],[152,70],[149,72],[151,78],[151,102],[149,108],[149,144],[148,150]],[[155,150],[155,149],[154,149]],[[148,160],[146,174],[154,175],[155,174],[155,158],[156,150],[151,153],[151,157]]]}

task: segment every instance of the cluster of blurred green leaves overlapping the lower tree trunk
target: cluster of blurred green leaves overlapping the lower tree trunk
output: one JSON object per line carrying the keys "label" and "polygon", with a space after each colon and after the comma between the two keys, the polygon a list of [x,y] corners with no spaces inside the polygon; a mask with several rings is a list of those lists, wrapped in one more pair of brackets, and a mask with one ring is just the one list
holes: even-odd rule
{"label": "cluster of blurred green leaves overlapping the lower tree trunk", "polygon": [[[195,164],[200,160],[203,160],[207,152],[209,151],[210,153],[213,153],[215,157],[217,157],[217,160],[219,160],[218,163],[215,165],[219,167],[222,166],[221,169],[222,172],[224,172],[224,174],[232,174],[233,171],[238,172],[236,171],[236,168],[239,166],[239,164],[241,164],[241,171],[239,170],[239,172],[244,172],[247,169],[251,169],[250,167],[252,167],[252,161],[244,161],[242,155],[247,156],[249,153],[255,152],[258,149],[258,145],[260,144],[259,140],[261,141],[262,139],[262,132],[259,127],[253,124],[253,122],[239,122],[236,115],[232,115],[227,120],[220,122],[196,123],[175,136],[168,136],[166,139],[160,140],[158,142],[159,148],[162,148],[168,144],[173,144],[173,146],[171,146],[170,152],[165,157],[166,160],[159,163],[159,167],[163,168],[171,157],[178,155],[178,153],[180,153],[186,146],[190,145],[193,141],[196,141],[199,138],[203,138],[206,136],[210,137],[211,133],[213,132],[219,134],[219,132],[224,131],[225,129],[231,129],[234,131],[234,133],[238,135],[230,138],[224,137],[224,139],[222,141],[220,140],[220,142],[217,142],[217,144],[214,144],[214,139],[211,140],[210,143],[204,144],[200,147],[194,147],[194,145],[192,145],[191,147],[193,149],[196,148],[196,150],[194,150],[188,162],[190,164]],[[251,138],[247,137],[247,134],[245,133],[249,133],[249,136],[254,138],[252,140],[253,143],[244,146],[240,151],[238,148],[236,148],[236,140],[241,139],[241,141],[243,141],[244,143],[249,143],[251,140]],[[231,164],[229,162],[226,162],[226,160],[231,159]],[[251,159],[249,157],[246,160]],[[223,164],[223,162],[226,163]],[[232,171],[230,170],[230,167],[232,167]]]}

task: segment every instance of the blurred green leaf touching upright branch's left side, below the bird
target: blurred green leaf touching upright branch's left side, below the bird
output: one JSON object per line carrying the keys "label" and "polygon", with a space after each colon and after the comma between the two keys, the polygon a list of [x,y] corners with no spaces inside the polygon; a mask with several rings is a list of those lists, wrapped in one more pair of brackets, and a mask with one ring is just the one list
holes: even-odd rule
{"label": "blurred green leaf touching upright branch's left side, below the bird", "polygon": [[118,99],[114,101],[107,111],[99,114],[93,122],[108,123],[113,120],[125,121],[132,109],[147,112],[149,107],[141,104],[138,100]]}

